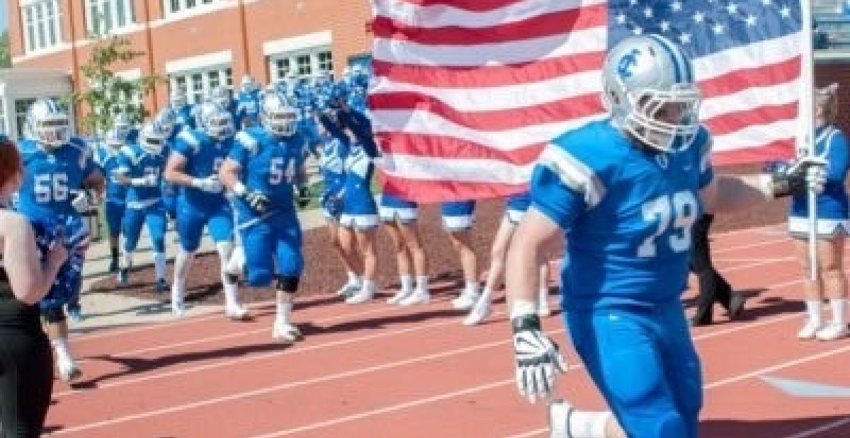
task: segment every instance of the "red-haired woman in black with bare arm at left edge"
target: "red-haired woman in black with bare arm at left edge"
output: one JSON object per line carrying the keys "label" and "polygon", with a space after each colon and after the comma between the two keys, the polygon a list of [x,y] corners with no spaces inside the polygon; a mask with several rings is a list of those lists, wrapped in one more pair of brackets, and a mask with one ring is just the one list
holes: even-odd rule
{"label": "red-haired woman in black with bare arm at left edge", "polygon": [[38,300],[68,257],[62,244],[40,254],[26,217],[5,208],[21,180],[20,155],[0,137],[0,437],[42,434],[53,390],[53,355]]}

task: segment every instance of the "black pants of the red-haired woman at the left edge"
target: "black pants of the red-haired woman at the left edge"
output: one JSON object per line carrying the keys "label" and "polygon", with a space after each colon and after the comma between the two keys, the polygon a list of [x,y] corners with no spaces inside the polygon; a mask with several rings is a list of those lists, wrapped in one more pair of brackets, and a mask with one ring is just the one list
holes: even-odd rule
{"label": "black pants of the red-haired woman at the left edge", "polygon": [[54,380],[50,342],[37,331],[0,327],[0,436],[42,435]]}

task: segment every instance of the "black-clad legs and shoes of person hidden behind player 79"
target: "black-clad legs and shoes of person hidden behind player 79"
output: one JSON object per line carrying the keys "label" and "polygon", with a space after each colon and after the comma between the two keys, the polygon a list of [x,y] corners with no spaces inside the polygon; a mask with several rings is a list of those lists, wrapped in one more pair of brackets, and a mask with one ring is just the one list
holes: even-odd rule
{"label": "black-clad legs and shoes of person hidden behind player 79", "polygon": [[708,243],[708,233],[714,215],[702,215],[694,223],[693,242],[691,246],[691,271],[700,280],[700,295],[696,300],[696,315],[699,323],[711,323],[711,308],[715,303],[729,309],[732,300],[732,286],[728,284],[711,263],[711,247]]}

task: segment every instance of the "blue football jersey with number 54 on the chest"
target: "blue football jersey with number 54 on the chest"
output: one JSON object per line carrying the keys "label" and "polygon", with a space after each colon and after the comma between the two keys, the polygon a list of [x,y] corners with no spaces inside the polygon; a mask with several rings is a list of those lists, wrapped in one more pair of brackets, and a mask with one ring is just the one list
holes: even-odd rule
{"label": "blue football jersey with number 54 on the chest", "polygon": [[[300,182],[303,141],[297,134],[275,137],[259,127],[236,134],[229,158],[241,166],[240,179],[246,188],[269,197],[271,210],[294,214],[292,186]],[[236,198],[234,205],[240,222],[258,216],[241,198]]]}

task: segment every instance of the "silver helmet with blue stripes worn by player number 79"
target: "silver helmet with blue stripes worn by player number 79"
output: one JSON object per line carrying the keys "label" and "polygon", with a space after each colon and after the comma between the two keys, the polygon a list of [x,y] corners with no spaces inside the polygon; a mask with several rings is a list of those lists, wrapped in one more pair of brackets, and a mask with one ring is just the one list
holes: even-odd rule
{"label": "silver helmet with blue stripes worn by player number 79", "polygon": [[700,128],[694,66],[663,36],[629,36],[611,48],[603,100],[618,127],[654,149],[686,149]]}

